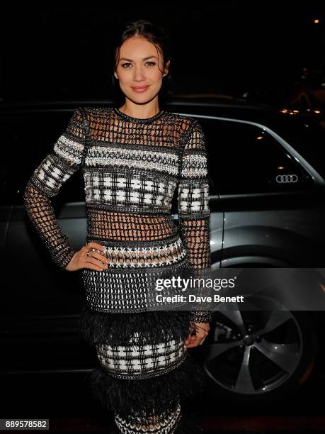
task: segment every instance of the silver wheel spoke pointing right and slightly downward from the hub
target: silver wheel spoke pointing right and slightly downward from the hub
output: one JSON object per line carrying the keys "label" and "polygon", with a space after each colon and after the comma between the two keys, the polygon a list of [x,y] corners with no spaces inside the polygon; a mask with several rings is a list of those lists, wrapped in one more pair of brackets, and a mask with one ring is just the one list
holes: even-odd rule
{"label": "silver wheel spoke pointing right and slightly downward from the hub", "polygon": [[261,343],[254,343],[254,347],[285,372],[292,372],[297,365],[297,356],[299,355],[297,343],[279,344],[263,339]]}

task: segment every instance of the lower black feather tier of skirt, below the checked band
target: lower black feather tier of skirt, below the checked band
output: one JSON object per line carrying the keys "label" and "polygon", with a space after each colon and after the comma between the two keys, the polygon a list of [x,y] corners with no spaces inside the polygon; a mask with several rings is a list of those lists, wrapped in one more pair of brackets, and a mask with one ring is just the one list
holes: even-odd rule
{"label": "lower black feather tier of skirt, below the checked band", "polygon": [[173,411],[178,402],[186,405],[203,390],[205,374],[189,353],[169,372],[147,379],[113,377],[101,365],[86,377],[91,395],[104,408],[123,418]]}

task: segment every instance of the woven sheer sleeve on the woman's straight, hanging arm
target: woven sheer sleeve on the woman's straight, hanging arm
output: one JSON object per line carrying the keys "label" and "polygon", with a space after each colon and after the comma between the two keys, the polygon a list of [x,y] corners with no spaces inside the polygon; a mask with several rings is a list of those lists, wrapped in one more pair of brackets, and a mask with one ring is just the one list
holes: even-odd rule
{"label": "woven sheer sleeve on the woman's straight, hanging arm", "polygon": [[[181,238],[188,250],[190,271],[203,275],[211,267],[209,179],[205,136],[198,121],[193,120],[186,133],[178,183],[178,221]],[[192,312],[192,321],[212,321],[212,313],[200,309]]]}

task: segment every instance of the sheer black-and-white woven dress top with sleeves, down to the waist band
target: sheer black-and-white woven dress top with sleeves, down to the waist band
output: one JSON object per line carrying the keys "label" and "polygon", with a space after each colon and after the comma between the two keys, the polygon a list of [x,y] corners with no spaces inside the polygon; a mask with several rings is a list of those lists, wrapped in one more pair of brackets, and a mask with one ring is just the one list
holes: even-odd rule
{"label": "sheer black-and-white woven dress top with sleeves, down to the waist band", "polygon": [[[52,197],[81,169],[87,241],[109,246],[109,268],[160,267],[185,259],[193,269],[210,268],[207,152],[200,123],[163,110],[145,119],[117,108],[86,107],[85,113],[86,149],[84,118],[76,109],[25,187],[25,209],[55,263],[65,269],[76,250],[58,225]],[[179,226],[171,218],[176,187]]]}

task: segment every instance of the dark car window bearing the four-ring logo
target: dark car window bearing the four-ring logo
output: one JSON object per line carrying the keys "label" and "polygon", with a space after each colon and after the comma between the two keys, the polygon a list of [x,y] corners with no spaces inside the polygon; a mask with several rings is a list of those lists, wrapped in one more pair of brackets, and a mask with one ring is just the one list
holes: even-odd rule
{"label": "dark car window bearing the four-ring logo", "polygon": [[261,128],[236,121],[199,121],[207,143],[210,194],[282,191],[312,184],[304,168]]}

